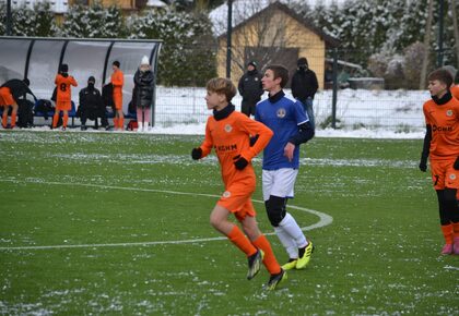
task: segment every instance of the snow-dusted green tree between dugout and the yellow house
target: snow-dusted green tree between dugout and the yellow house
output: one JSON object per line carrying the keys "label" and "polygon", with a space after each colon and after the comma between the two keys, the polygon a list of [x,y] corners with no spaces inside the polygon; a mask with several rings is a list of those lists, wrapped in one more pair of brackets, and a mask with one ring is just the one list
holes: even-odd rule
{"label": "snow-dusted green tree between dugout and the yellow house", "polygon": [[131,38],[162,39],[158,83],[203,86],[216,75],[215,44],[207,15],[173,10],[151,10],[131,16]]}

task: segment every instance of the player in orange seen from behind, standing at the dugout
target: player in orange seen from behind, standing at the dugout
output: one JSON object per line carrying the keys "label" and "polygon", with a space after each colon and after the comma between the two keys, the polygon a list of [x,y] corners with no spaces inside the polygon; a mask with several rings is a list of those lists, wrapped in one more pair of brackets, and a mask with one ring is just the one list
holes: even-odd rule
{"label": "player in orange seen from behind, standing at the dugout", "polygon": [[69,121],[69,110],[72,109],[72,89],[71,86],[78,86],[74,77],[69,75],[69,65],[63,63],[59,68],[55,84],[57,86],[56,111],[52,117],[52,129],[56,129],[60,111],[63,112],[62,130],[66,131]]}

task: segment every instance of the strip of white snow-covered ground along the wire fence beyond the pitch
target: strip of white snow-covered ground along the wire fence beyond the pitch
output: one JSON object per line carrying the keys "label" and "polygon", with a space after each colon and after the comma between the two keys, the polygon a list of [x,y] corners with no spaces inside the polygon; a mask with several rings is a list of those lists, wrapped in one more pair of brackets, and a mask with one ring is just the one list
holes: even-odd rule
{"label": "strip of white snow-covered ground along the wire fence beyond the pitch", "polygon": [[[289,89],[285,93],[292,97]],[[202,135],[212,113],[207,109],[204,96],[205,88],[158,86],[155,126],[149,133]],[[423,90],[341,89],[337,96],[338,129],[333,130],[325,124],[332,113],[332,92],[321,90],[314,101],[316,134],[319,137],[422,138],[425,125],[422,105],[428,98],[428,92]],[[240,101],[239,95],[233,99],[236,110],[240,110]],[[35,121],[44,123],[40,118]],[[78,119],[74,123],[80,124]],[[46,126],[35,129],[47,130]]]}

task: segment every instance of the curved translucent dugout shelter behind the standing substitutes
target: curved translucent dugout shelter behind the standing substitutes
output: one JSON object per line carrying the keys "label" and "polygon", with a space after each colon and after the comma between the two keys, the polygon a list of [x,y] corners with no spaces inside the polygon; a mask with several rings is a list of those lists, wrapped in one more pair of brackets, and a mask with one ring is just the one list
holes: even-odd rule
{"label": "curved translucent dugout shelter behind the standing substitutes", "polygon": [[[50,99],[59,65],[67,63],[79,86],[72,89],[72,101],[79,106],[79,92],[92,75],[96,87],[110,82],[111,63],[118,60],[125,74],[122,109],[128,113],[134,86],[133,75],[143,56],[150,58],[156,76],[162,41],[156,39],[87,39],[0,36],[0,85],[11,78],[31,81],[37,98]],[[151,122],[154,123],[155,84]]]}

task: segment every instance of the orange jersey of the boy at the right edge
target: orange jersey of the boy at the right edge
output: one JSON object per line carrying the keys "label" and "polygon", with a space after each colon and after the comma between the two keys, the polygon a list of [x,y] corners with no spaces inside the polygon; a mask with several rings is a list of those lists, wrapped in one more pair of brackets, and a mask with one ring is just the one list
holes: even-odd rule
{"label": "orange jersey of the boy at the right edge", "polygon": [[431,159],[456,159],[459,156],[459,100],[451,98],[445,105],[428,100],[423,111],[425,123],[432,126]]}

